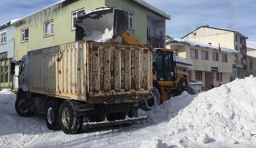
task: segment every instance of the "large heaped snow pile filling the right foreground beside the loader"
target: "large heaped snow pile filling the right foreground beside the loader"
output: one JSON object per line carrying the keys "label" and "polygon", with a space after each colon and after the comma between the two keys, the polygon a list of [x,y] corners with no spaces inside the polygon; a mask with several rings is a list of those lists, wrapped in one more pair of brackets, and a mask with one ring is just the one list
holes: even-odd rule
{"label": "large heaped snow pile filling the right foreground beside the loader", "polygon": [[[151,111],[148,123],[159,123],[175,134],[190,133],[190,141],[209,140],[236,143],[256,143],[256,78],[252,75],[236,79],[207,92],[180,96],[164,101]],[[166,131],[168,134],[168,131]],[[204,135],[206,134],[206,135]]]}

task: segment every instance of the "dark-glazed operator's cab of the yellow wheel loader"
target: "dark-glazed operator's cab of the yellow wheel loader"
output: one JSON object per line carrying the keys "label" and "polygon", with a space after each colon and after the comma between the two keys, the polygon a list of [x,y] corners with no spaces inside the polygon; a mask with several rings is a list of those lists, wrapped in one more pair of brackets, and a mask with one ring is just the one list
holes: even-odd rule
{"label": "dark-glazed operator's cab of the yellow wheel loader", "polygon": [[153,52],[153,74],[156,81],[175,81],[173,50],[156,48]]}

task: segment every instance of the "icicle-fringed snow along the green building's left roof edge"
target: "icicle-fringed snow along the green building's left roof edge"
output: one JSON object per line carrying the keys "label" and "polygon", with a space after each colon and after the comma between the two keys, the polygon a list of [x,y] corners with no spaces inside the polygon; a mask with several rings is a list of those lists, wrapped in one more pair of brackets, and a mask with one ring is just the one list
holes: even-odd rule
{"label": "icicle-fringed snow along the green building's left roof edge", "polygon": [[64,1],[67,1],[67,0],[61,0],[57,3],[54,3],[50,6],[45,7],[44,9],[41,9],[39,11],[36,11],[36,12],[32,13],[32,14],[29,14],[28,16],[25,16],[23,18],[14,19],[14,20],[12,20],[11,25],[22,25],[22,24],[28,23],[28,22],[35,22],[36,18],[37,19],[39,19],[39,18],[44,19],[44,15],[52,14],[54,11],[57,11],[60,8],[62,8],[62,3]]}

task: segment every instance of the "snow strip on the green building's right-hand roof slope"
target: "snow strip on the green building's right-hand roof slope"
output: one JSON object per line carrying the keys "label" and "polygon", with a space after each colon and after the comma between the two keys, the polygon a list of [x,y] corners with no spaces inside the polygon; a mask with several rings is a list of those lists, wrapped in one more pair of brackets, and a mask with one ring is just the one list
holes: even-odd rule
{"label": "snow strip on the green building's right-hand roof slope", "polygon": [[148,4],[144,0],[131,0],[131,1],[139,4],[142,7],[146,7],[148,10],[151,10],[151,11],[165,17],[166,19],[171,19],[171,15],[169,13],[157,9],[156,7],[152,6],[151,4]]}

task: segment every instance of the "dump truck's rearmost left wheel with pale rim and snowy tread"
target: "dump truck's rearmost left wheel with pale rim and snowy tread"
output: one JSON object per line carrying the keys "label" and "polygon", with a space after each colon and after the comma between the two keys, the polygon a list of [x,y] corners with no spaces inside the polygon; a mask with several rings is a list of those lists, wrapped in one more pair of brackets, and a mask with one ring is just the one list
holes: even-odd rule
{"label": "dump truck's rearmost left wheel with pale rim and snowy tread", "polygon": [[65,134],[75,134],[79,130],[80,116],[75,116],[70,101],[64,101],[60,106],[60,126]]}

